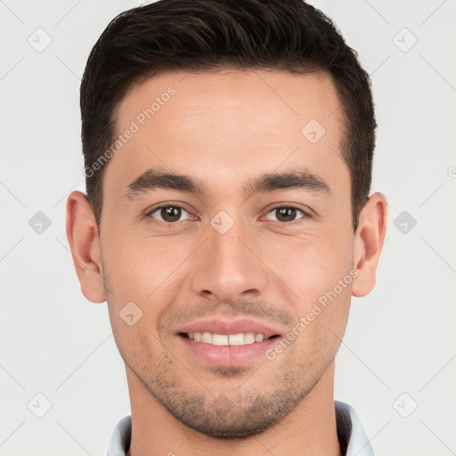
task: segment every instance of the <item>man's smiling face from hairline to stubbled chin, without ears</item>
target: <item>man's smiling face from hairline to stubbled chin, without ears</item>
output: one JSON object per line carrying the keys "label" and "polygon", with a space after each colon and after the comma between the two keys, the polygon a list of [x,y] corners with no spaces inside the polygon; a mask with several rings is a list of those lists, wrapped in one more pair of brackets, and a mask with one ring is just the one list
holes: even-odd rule
{"label": "man's smiling face from hairline to stubbled chin, without ears", "polygon": [[128,376],[202,433],[271,428],[338,350],[355,275],[339,104],[322,72],[225,70],[151,77],[118,107],[110,321]]}

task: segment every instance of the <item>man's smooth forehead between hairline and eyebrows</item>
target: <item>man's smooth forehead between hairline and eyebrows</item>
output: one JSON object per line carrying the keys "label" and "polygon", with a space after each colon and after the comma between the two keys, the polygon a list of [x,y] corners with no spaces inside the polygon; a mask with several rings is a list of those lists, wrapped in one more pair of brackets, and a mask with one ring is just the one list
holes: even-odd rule
{"label": "man's smooth forehead between hairline and eyebrows", "polygon": [[125,191],[150,167],[231,187],[239,176],[305,166],[326,181],[348,171],[339,148],[340,102],[324,72],[167,72],[134,85],[118,105],[105,184]]}

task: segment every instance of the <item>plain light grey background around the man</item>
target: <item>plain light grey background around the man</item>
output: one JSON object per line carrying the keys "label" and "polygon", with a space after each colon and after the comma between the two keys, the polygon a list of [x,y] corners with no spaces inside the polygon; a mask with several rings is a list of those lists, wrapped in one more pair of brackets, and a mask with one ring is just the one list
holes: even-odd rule
{"label": "plain light grey background around the man", "polygon": [[[104,454],[130,412],[107,305],[80,292],[65,200],[85,191],[86,58],[108,22],[141,3],[0,1],[2,456]],[[456,2],[312,3],[371,74],[372,190],[389,202],[378,285],[353,299],[335,395],[360,413],[377,455],[455,454]],[[42,53],[28,44],[30,36],[45,44],[37,28],[52,38]],[[28,224],[38,211],[52,223],[42,233]],[[38,393],[52,403],[43,418]]]}

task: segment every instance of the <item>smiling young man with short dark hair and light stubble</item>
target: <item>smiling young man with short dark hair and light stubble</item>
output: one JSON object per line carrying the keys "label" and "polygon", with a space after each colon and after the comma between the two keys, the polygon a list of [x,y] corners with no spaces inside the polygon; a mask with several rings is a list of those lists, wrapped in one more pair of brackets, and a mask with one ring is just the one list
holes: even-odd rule
{"label": "smiling young man with short dark hair and light stubble", "polygon": [[132,411],[108,454],[372,454],[334,359],[387,203],[369,77],[330,20],[300,0],[123,12],[81,113],[67,234]]}

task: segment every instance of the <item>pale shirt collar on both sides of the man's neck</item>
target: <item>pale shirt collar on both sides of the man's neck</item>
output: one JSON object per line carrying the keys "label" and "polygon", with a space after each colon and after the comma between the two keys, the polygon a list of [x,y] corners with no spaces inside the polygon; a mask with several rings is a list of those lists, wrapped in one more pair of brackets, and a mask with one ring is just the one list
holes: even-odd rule
{"label": "pale shirt collar on both sides of the man's neck", "polygon": [[[348,403],[335,401],[338,441],[345,456],[374,456],[361,419]],[[106,456],[126,456],[132,437],[131,415],[120,419],[112,433]]]}

